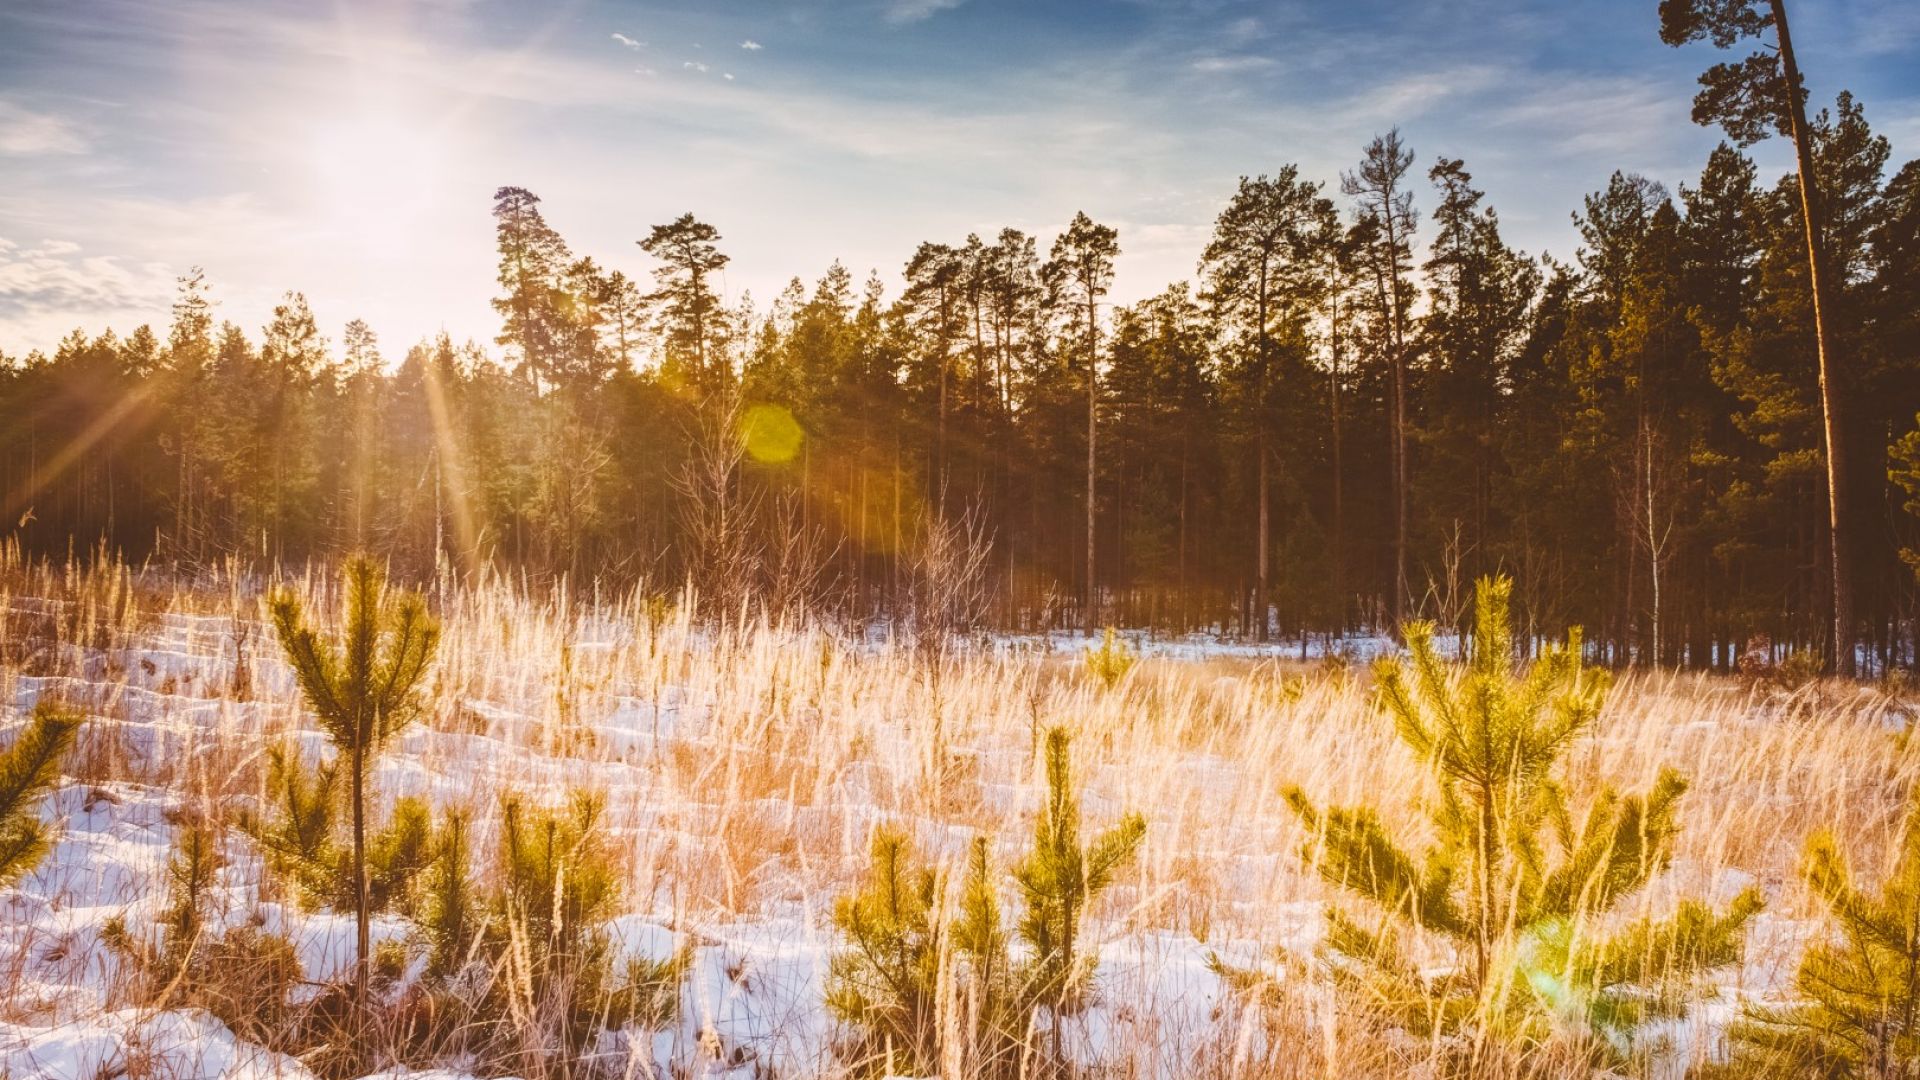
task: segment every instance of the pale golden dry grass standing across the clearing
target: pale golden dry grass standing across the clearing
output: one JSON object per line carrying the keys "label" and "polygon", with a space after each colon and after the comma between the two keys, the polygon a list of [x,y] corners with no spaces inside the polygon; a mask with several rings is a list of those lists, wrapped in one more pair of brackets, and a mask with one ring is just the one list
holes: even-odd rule
{"label": "pale golden dry grass standing across the clearing", "polygon": [[[303,588],[326,603],[321,577]],[[445,625],[434,709],[378,769],[382,794],[472,805],[486,849],[499,792],[597,788],[624,851],[626,905],[695,940],[795,911],[826,934],[824,913],[860,872],[877,819],[910,822],[935,857],[958,859],[968,836],[987,834],[1010,861],[1027,840],[1048,724],[1077,732],[1089,826],[1123,809],[1150,822],[1139,867],[1096,911],[1104,940],[1309,947],[1331,896],[1298,859],[1306,836],[1281,799],[1286,784],[1323,805],[1371,803],[1405,836],[1423,828],[1423,767],[1373,711],[1363,675],[1142,659],[1106,688],[1077,655],[927,659],[904,642],[810,626],[703,630],[687,605],[662,617],[637,592],[444,584],[432,603]],[[236,680],[242,644],[252,671]],[[269,646],[257,588],[230,577],[188,588],[17,557],[0,567],[0,694],[38,686],[96,717],[69,763],[79,784],[152,786],[211,815],[257,796],[261,748],[301,724]],[[1724,901],[1763,884],[1770,911],[1738,982],[1764,992],[1789,978],[1816,911],[1793,880],[1805,836],[1834,828],[1868,869],[1887,851],[1920,771],[1897,734],[1907,711],[1868,686],[1788,698],[1728,678],[1626,675],[1567,782],[1642,790],[1661,765],[1692,778],[1674,867],[1634,903]],[[17,963],[0,957],[0,976]],[[44,986],[8,984],[0,1015],[46,1011],[33,997]],[[1150,980],[1116,978],[1104,994],[1131,1017],[1114,1074],[1194,1074],[1196,1061],[1206,1076],[1419,1070],[1417,1047],[1311,982],[1204,1022],[1164,1015]]]}

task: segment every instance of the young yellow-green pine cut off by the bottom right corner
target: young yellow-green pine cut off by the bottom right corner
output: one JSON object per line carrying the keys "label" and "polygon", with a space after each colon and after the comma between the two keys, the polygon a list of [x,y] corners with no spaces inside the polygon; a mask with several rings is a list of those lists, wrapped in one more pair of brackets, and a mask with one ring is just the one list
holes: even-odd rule
{"label": "young yellow-green pine cut off by the bottom right corner", "polygon": [[1728,1032],[1732,1061],[1713,1076],[1920,1078],[1920,798],[1880,896],[1860,888],[1832,832],[1807,844],[1801,880],[1832,922],[1801,957],[1801,1001],[1749,1005]]}

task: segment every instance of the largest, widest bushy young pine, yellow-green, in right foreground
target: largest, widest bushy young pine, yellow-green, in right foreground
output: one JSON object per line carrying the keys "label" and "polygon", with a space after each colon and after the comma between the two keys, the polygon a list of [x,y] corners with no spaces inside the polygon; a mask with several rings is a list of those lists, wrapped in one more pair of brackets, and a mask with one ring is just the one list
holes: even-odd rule
{"label": "largest, widest bushy young pine, yellow-green, in right foreground", "polygon": [[[1430,767],[1434,846],[1415,859],[1367,807],[1319,809],[1298,788],[1304,857],[1373,901],[1371,917],[1327,913],[1336,982],[1419,1034],[1471,1034],[1523,1047],[1571,1036],[1615,1065],[1649,1020],[1678,1015],[1695,976],[1736,963],[1749,890],[1720,915],[1697,901],[1665,920],[1601,934],[1596,920],[1670,859],[1686,780],[1663,771],[1644,796],[1601,790],[1574,815],[1553,769],[1599,717],[1607,680],[1580,663],[1580,636],[1513,669],[1507,578],[1482,578],[1467,665],[1440,659],[1434,626],[1407,626],[1405,661],[1377,667],[1382,709]],[[1404,934],[1446,944],[1430,974]]]}

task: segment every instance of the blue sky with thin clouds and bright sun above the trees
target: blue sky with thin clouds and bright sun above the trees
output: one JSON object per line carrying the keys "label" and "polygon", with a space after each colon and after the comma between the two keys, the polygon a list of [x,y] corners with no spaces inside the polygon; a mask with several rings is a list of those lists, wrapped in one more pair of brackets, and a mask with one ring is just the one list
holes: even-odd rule
{"label": "blue sky with thin clouds and bright sun above the trees", "polygon": [[[1789,15],[1814,104],[1849,88],[1920,154],[1920,4]],[[1615,169],[1697,177],[1720,58],[1661,44],[1655,0],[0,0],[0,354],[165,332],[192,265],[250,332],[301,290],[390,359],[492,342],[501,184],[643,281],[636,240],[693,211],[762,307],[833,259],[897,292],[922,240],[1044,252],[1085,209],[1133,302],[1194,275],[1240,175],[1336,192],[1394,125],[1417,209],[1463,158],[1565,259]]]}

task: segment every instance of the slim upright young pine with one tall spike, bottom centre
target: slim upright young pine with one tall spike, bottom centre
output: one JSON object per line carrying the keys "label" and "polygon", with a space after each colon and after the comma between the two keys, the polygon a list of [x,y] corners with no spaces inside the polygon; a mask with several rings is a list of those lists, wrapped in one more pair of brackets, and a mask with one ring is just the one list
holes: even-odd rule
{"label": "slim upright young pine with one tall spike, bottom centre", "polygon": [[1033,826],[1033,851],[1014,871],[1027,903],[1020,936],[1033,949],[1023,982],[1035,1001],[1052,1011],[1056,1059],[1062,1017],[1081,1005],[1092,976],[1092,957],[1079,949],[1081,920],[1146,838],[1146,819],[1129,813],[1092,844],[1081,844],[1069,744],[1066,728],[1046,732],[1046,798]]}

